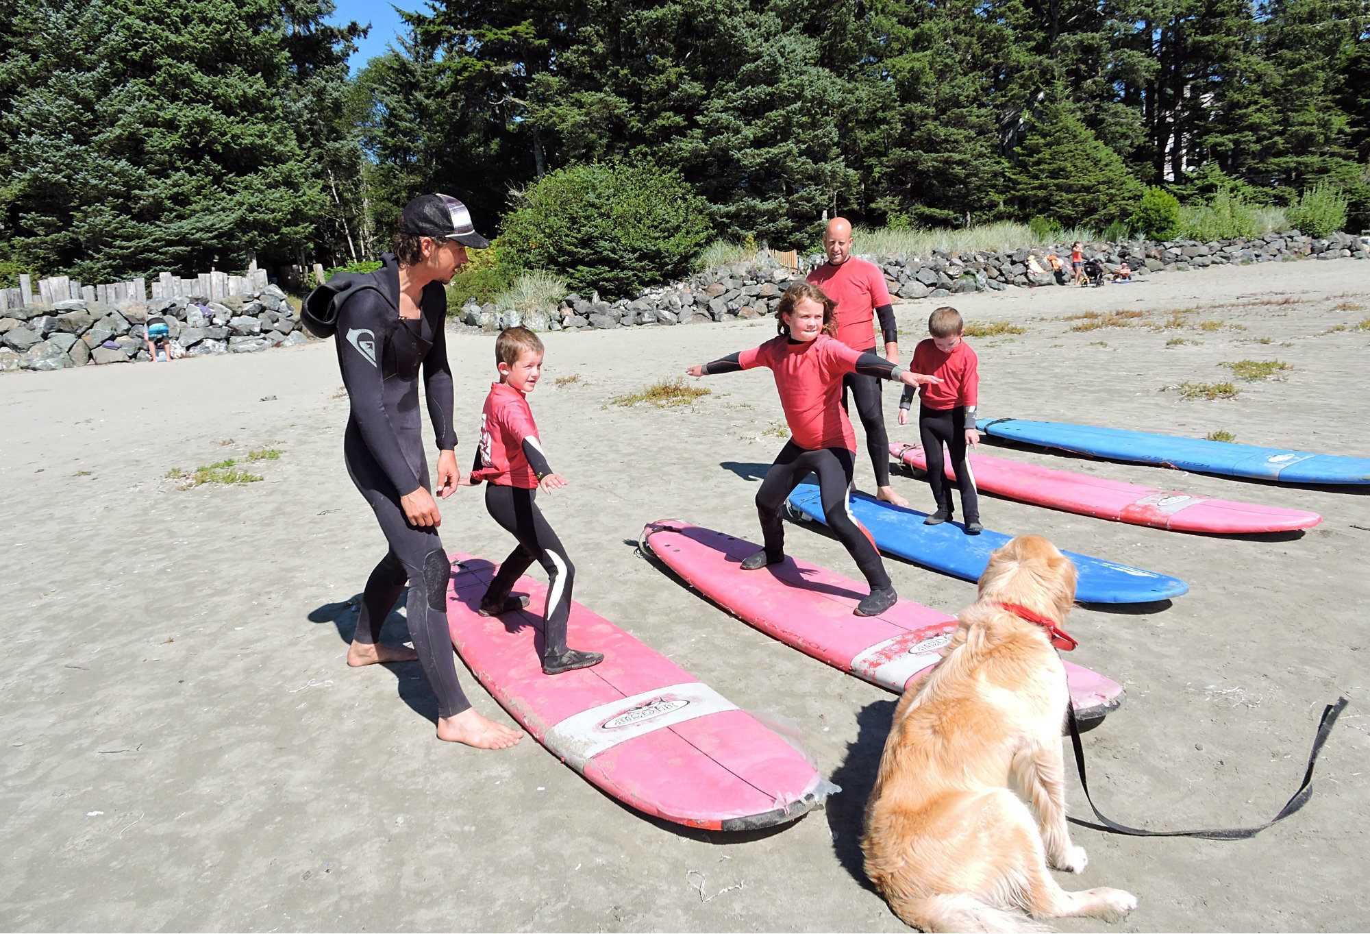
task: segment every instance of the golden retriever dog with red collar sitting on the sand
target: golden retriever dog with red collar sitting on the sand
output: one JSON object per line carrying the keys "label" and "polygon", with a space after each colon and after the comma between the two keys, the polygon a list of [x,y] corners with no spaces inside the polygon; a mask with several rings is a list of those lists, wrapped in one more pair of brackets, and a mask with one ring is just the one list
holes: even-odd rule
{"label": "golden retriever dog with red collar sitting on the sand", "polygon": [[1014,538],[991,556],[941,661],[900,698],[862,852],[866,875],[904,923],[1051,930],[1021,911],[1118,920],[1137,907],[1119,889],[1066,892],[1047,868],[1085,870],[1066,827],[1060,730],[1070,694],[1047,629],[1063,623],[1074,598],[1070,559],[1038,535]]}

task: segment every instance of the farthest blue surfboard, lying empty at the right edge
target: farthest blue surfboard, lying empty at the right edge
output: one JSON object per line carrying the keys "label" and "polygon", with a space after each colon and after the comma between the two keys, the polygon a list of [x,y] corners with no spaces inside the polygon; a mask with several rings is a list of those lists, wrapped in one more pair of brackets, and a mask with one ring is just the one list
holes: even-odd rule
{"label": "farthest blue surfboard, lying empty at the right edge", "polygon": [[1307,451],[1258,448],[1173,434],[1103,429],[1066,422],[1028,422],[1017,418],[975,419],[981,431],[996,438],[1059,448],[1096,457],[1164,464],[1197,474],[1251,477],[1281,483],[1370,483],[1370,457],[1315,455]]}

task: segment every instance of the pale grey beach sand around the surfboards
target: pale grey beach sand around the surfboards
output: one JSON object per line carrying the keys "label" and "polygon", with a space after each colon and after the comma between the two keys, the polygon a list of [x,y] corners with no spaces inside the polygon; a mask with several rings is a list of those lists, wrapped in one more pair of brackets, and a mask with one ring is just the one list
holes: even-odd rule
{"label": "pale grey beach sand around the surfboards", "polygon": [[[934,304],[899,307],[906,353]],[[986,415],[1370,453],[1370,334],[1328,333],[1370,316],[1365,263],[1167,273],[956,304],[973,322],[1026,329],[973,341]],[[1193,322],[1228,326],[1071,331],[1062,320],[1136,310],[1159,322],[1189,307]],[[532,740],[500,753],[438,742],[416,664],[344,666],[349,600],[384,544],[342,468],[347,400],[330,345],[0,378],[0,612],[14,637],[0,672],[0,926],[904,930],[864,883],[858,849],[895,697],[751,630],[634,553],[644,522],[663,516],[755,538],[752,496],[782,444],[764,431],[781,411],[769,375],[752,373],[712,378],[701,383],[712,394],[680,408],[610,400],[770,334],[769,320],[548,334],[533,396],[549,460],[571,482],[544,509],[578,566],[577,600],[738,705],[795,720],[844,787],[826,812],[748,837],[647,820]],[[1197,342],[1167,346],[1175,337]],[[492,345],[451,338],[463,468]],[[1228,379],[1219,363],[1247,357],[1293,370],[1240,383],[1237,400],[1164,389]],[[912,438],[893,425],[893,389],[886,400],[891,437]],[[164,478],[263,448],[284,453],[249,464],[258,483],[179,490]],[[1070,619],[1074,660],[1128,690],[1085,737],[1111,816],[1266,820],[1299,783],[1323,704],[1352,700],[1293,819],[1245,842],[1075,829],[1091,861],[1066,885],[1136,893],[1138,909],[1115,930],[1370,924],[1370,500],[1026,448],[1008,456],[1326,516],[1302,535],[1232,540],[984,497],[991,529],[1191,583],[1170,607]],[[871,488],[864,457],[858,483]],[[930,501],[921,481],[895,483],[915,505]],[[443,512],[449,551],[508,551],[480,494],[463,490]],[[795,553],[855,575],[833,540],[797,526],[788,535]],[[974,596],[971,583],[888,566],[900,594],[932,607],[956,612]],[[388,637],[406,637],[403,612]],[[510,722],[459,671],[477,707]],[[1086,815],[1070,785],[1071,812]]]}

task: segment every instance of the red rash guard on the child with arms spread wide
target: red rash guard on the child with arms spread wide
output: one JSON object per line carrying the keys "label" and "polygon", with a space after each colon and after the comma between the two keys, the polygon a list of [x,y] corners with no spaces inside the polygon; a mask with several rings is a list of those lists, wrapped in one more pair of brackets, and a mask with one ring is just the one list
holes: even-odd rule
{"label": "red rash guard on the child with arms spread wide", "polygon": [[859,359],[860,353],[826,334],[803,344],[790,344],[782,334],[737,355],[743,370],[770,367],[785,423],[795,444],[806,451],[856,451],[856,433],[843,411],[841,396],[843,375],[854,373]]}

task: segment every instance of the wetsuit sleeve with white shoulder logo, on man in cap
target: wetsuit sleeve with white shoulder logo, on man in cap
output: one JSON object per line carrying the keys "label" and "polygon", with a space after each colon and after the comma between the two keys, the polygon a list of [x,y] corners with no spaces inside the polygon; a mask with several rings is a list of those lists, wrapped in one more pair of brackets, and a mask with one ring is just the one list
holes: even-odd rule
{"label": "wetsuit sleeve with white shoulder logo, on man in cap", "polygon": [[385,300],[375,292],[353,296],[338,312],[337,340],[342,385],[348,392],[352,418],[362,431],[362,441],[385,471],[400,496],[419,488],[419,478],[404,459],[400,437],[385,414],[385,377],[381,360],[389,337]]}

